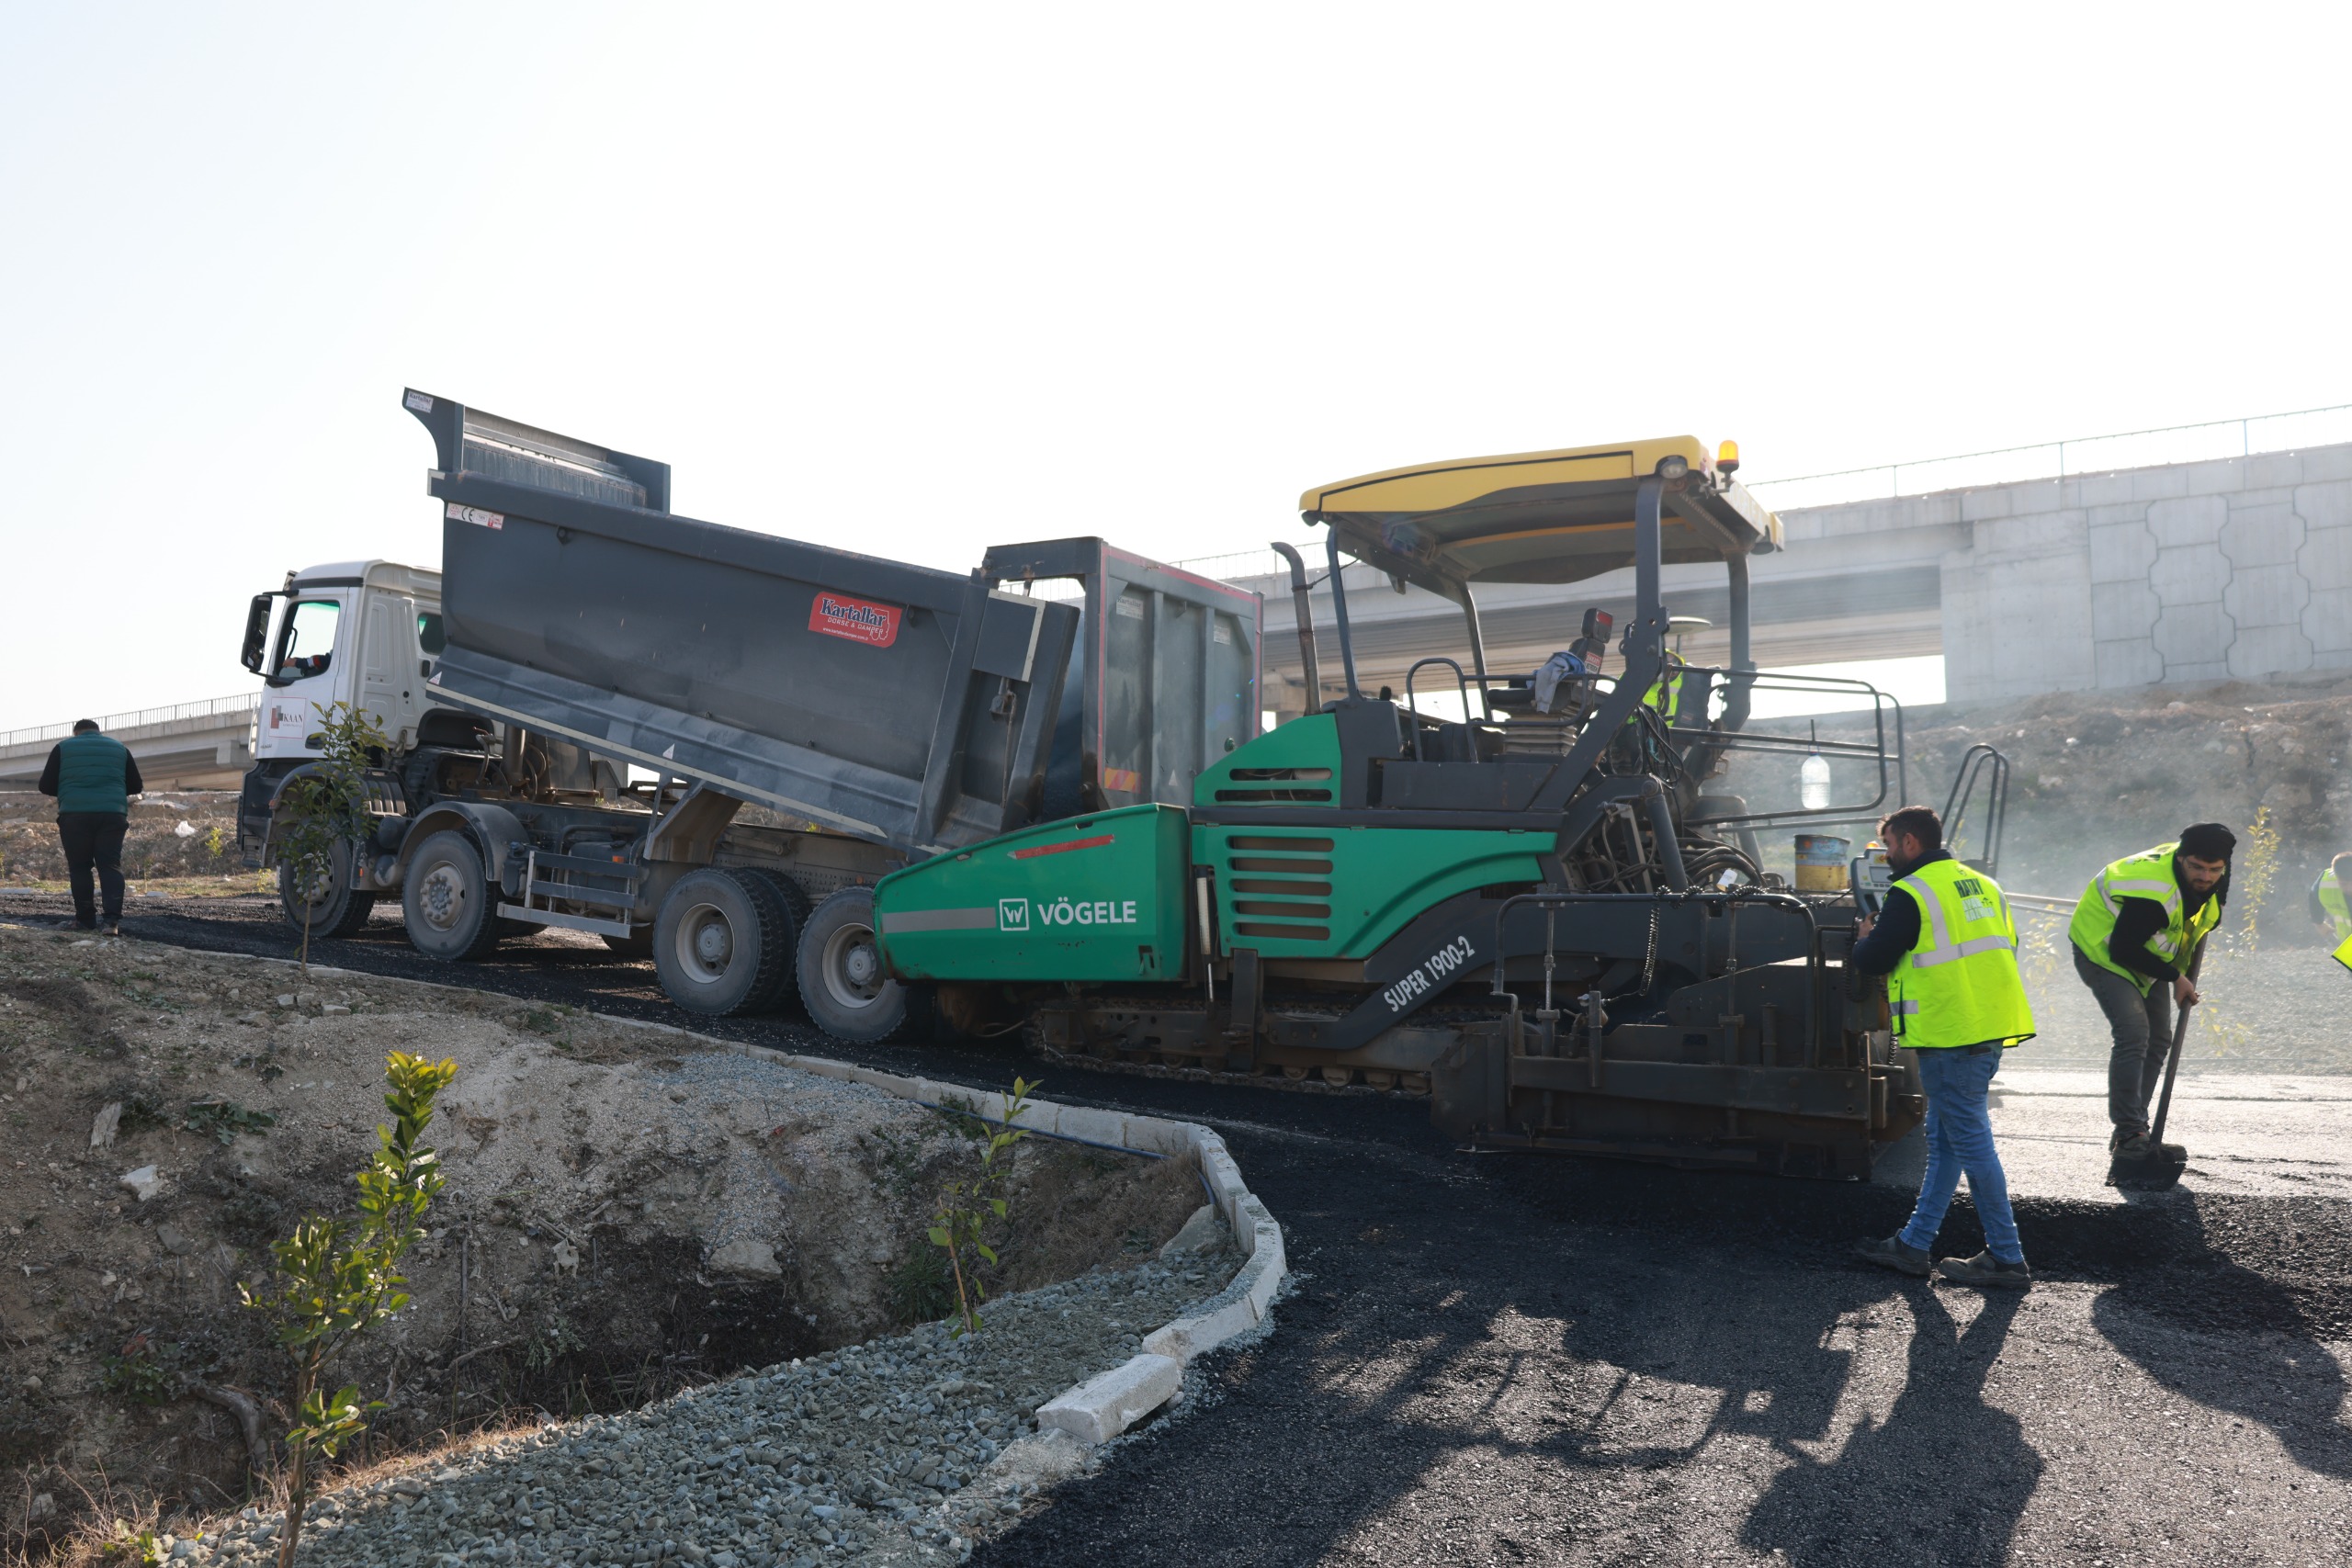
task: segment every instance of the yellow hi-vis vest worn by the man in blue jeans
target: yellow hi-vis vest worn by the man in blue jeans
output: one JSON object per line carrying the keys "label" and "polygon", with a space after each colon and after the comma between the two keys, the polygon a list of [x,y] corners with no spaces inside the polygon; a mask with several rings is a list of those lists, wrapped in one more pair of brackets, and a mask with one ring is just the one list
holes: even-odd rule
{"label": "yellow hi-vis vest worn by the man in blue jeans", "polygon": [[1886,976],[1896,1044],[1950,1051],[2032,1039],[2018,926],[1999,884],[1959,860],[1929,860],[1896,886],[1919,905],[1919,940]]}

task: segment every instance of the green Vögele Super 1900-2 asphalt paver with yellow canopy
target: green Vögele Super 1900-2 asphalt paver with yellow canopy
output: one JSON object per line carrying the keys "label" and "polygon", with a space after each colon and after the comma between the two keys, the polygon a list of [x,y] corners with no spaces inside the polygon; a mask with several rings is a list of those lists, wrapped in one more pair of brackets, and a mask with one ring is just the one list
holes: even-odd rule
{"label": "green V\u00f6gele Super 1900-2 asphalt paver with yellow canopy", "polygon": [[[1748,562],[1783,534],[1733,468],[1733,447],[1665,437],[1310,489],[1345,696],[1216,759],[1188,802],[891,872],[873,891],[889,985],[1065,1058],[1423,1093],[1486,1147],[1865,1175],[1922,1121],[1917,1067],[1849,964],[1853,891],[1788,886],[1757,835],[1903,804],[1900,705],[1757,670]],[[1287,555],[1315,693],[1312,585]],[[1404,693],[1357,684],[1348,562],[1463,611]],[[1722,668],[1670,651],[1675,562],[1729,574]],[[1588,609],[1545,668],[1489,668],[1482,583],[1628,567],[1628,625]],[[1773,686],[1846,686],[1877,717],[1865,738],[1762,733]],[[1710,792],[1740,750],[1828,752],[1844,799]]]}

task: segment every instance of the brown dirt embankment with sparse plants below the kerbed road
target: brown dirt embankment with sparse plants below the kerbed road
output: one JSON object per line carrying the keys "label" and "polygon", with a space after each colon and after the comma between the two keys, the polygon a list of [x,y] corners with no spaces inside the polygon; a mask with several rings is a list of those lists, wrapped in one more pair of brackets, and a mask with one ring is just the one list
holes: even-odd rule
{"label": "brown dirt embankment with sparse plants below the kerbed road", "polygon": [[[358,1460],[953,1305],[922,1229],[976,1159],[960,1119],[567,1009],[0,926],[0,1552],[242,1497],[198,1389],[285,1429],[238,1281],[299,1215],[350,1213],[395,1048],[459,1077],[414,1300],[341,1371],[388,1406]],[[1197,1204],[1176,1161],[1023,1145],[993,1284],[1131,1262]]]}

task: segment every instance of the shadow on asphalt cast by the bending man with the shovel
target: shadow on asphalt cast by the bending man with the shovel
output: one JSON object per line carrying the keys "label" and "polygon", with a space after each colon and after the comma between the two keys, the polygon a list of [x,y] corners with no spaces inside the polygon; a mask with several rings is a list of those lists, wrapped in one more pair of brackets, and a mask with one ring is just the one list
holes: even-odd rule
{"label": "shadow on asphalt cast by the bending man with the shovel", "polygon": [[[2091,1324],[2171,1394],[2260,1422],[2305,1469],[2352,1479],[2345,1368],[2328,1354],[2326,1335],[2277,1279],[2213,1246],[2197,1194],[2173,1197],[2169,1218],[2185,1237],[2161,1258],[2164,1272],[2194,1272],[2190,1305],[2220,1305],[2225,1316],[2166,1321],[2180,1316],[2178,1293],[2152,1295],[2122,1279],[2091,1302]],[[2220,1345],[2183,1345],[2183,1331]]]}

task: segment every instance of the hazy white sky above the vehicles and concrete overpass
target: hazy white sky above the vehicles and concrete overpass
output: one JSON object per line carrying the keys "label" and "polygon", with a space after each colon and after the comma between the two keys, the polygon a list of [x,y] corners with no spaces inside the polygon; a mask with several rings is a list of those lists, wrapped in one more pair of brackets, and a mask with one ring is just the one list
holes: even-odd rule
{"label": "hazy white sky above the vehicles and concrete overpass", "polygon": [[2345,7],[0,7],[0,726],[437,562],[402,386],[941,567],[2352,400]]}

